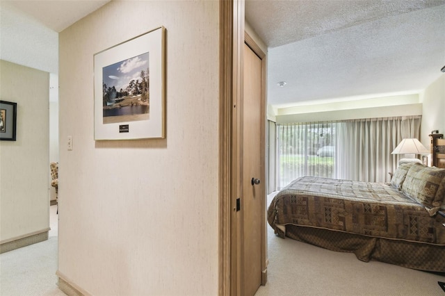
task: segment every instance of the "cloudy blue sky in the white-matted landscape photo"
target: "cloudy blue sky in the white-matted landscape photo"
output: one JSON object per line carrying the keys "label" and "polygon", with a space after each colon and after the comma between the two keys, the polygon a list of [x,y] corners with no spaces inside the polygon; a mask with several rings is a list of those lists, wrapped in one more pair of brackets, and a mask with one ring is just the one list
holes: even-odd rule
{"label": "cloudy blue sky in the white-matted landscape photo", "polygon": [[133,79],[134,81],[139,79],[140,82],[140,71],[146,71],[148,67],[149,53],[146,52],[102,68],[103,81],[107,88],[112,88],[114,85],[119,92],[121,88],[125,90]]}

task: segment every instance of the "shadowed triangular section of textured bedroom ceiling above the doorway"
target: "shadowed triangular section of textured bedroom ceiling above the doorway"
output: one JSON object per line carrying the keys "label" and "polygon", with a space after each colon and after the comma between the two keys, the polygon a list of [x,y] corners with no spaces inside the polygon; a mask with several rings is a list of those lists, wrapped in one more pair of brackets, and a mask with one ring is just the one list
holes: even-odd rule
{"label": "shadowed triangular section of textured bedroom ceiling above the doorway", "polygon": [[246,0],[245,19],[268,47],[278,47],[442,4],[444,0]]}

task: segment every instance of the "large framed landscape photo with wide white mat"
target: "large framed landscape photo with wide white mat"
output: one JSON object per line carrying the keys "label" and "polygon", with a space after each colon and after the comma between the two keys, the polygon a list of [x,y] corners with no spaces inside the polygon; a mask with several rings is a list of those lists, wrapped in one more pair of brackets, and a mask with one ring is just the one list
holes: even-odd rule
{"label": "large framed landscape photo with wide white mat", "polygon": [[165,28],[94,55],[95,140],[165,138]]}

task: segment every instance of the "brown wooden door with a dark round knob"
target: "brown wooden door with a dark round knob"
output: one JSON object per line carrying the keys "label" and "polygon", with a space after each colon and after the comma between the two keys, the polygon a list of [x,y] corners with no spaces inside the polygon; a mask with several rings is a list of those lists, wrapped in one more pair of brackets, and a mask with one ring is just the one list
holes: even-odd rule
{"label": "brown wooden door with a dark round knob", "polygon": [[264,268],[264,64],[246,44],[243,55],[241,287],[243,295],[254,295],[263,281]]}

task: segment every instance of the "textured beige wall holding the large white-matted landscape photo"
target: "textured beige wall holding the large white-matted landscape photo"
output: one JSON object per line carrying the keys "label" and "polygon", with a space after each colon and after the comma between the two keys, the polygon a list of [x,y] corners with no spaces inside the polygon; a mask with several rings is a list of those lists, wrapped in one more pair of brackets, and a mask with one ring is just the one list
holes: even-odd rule
{"label": "textured beige wall holding the large white-matted landscape photo", "polygon": [[[218,1],[112,1],[60,33],[58,274],[85,293],[218,294],[218,19]],[[166,139],[95,142],[93,55],[159,26]]]}

